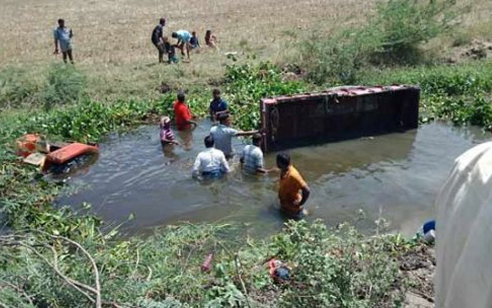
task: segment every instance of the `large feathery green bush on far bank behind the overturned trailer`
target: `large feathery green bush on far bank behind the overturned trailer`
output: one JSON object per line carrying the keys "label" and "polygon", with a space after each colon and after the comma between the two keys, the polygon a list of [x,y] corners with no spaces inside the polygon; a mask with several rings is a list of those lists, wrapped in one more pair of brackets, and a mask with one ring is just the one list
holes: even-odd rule
{"label": "large feathery green bush on far bank behind the overturned trailer", "polygon": [[300,43],[295,62],[316,84],[351,84],[370,65],[418,64],[421,45],[451,28],[452,0],[379,2],[363,27],[318,34]]}

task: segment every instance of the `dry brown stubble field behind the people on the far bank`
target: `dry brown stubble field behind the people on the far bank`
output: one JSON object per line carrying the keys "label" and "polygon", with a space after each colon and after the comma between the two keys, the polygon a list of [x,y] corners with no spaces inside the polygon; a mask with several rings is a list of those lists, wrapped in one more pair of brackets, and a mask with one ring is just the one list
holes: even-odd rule
{"label": "dry brown stubble field behind the people on the far bank", "polygon": [[[490,0],[458,0],[470,11],[460,35],[492,38]],[[243,52],[258,60],[278,61],[296,50],[312,31],[329,33],[363,23],[375,0],[0,0],[0,63],[27,67],[31,76],[53,55],[52,30],[63,17],[74,31],[76,65],[93,79],[94,95],[139,95],[161,81],[175,86],[206,83],[230,63],[224,52]],[[206,29],[219,38],[220,51],[192,55],[192,63],[155,65],[150,33],[166,16],[166,33]],[[488,36],[488,37],[487,37]],[[446,42],[447,43],[447,42]],[[442,42],[435,44],[442,48]],[[59,56],[58,56],[59,57]]]}

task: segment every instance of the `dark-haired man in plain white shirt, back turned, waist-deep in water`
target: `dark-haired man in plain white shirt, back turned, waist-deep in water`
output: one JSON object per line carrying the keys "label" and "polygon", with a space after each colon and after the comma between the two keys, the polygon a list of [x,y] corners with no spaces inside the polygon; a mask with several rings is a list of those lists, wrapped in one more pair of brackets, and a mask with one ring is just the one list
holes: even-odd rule
{"label": "dark-haired man in plain white shirt, back turned, waist-deep in water", "polygon": [[198,153],[195,163],[193,164],[192,175],[194,178],[201,176],[204,178],[220,178],[223,174],[231,171],[224,153],[214,148],[214,139],[207,136],[204,139],[204,151]]}

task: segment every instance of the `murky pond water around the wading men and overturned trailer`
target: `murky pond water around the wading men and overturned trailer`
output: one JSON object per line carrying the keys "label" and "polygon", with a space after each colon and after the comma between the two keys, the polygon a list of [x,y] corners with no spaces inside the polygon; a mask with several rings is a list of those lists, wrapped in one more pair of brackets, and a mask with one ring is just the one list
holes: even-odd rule
{"label": "murky pond water around the wading men and overturned trailer", "polygon": [[[179,221],[243,222],[264,236],[282,227],[278,211],[278,174],[244,175],[235,160],[234,171],[214,182],[191,178],[191,165],[203,149],[210,123],[203,121],[191,134],[176,133],[187,144],[163,151],[156,126],[111,136],[101,144],[97,161],[72,174],[75,191],[58,205],[92,205],[108,222],[125,222],[128,233]],[[289,150],[293,164],[310,185],[308,220],[327,225],[352,222],[372,233],[383,217],[390,231],[410,236],[433,218],[433,203],[454,159],[491,136],[478,128],[456,128],[439,122],[417,130],[301,147]],[[235,139],[236,152],[242,141]],[[275,153],[265,156],[273,166]],[[360,218],[360,210],[364,218]],[[134,215],[134,219],[128,217]]]}

